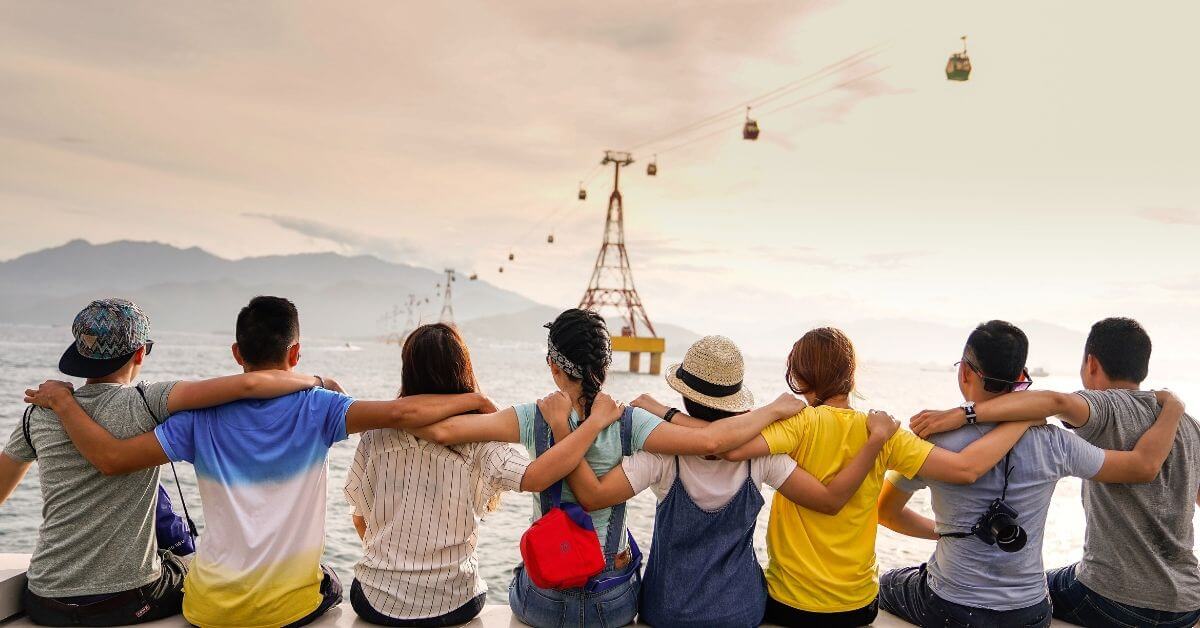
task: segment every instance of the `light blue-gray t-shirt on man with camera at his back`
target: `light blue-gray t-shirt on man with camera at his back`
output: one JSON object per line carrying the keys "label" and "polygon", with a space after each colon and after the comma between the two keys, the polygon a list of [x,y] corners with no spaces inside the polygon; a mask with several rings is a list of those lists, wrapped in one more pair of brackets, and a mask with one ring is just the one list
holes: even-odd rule
{"label": "light blue-gray t-shirt on man with camera at his back", "polygon": [[[995,425],[966,425],[930,438],[934,444],[961,451]],[[1008,554],[977,537],[943,537],[929,560],[929,586],[942,599],[966,606],[1014,610],[1045,599],[1046,578],[1042,566],[1042,538],[1050,498],[1060,478],[1091,478],[1104,466],[1104,451],[1082,438],[1052,425],[1031,427],[1009,454],[1013,474],[1004,502],[1018,512],[1016,521],[1028,534],[1020,551]],[[1001,496],[1004,462],[1001,461],[978,482],[961,486],[919,477],[888,480],[905,492],[928,486],[937,521],[937,533],[970,532]]]}

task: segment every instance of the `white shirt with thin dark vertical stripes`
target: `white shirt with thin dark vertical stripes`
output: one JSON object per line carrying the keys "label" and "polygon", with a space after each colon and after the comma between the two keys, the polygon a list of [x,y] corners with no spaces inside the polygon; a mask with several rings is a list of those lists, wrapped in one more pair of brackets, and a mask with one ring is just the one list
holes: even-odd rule
{"label": "white shirt with thin dark vertical stripes", "polygon": [[442,447],[398,430],[364,432],[346,498],[366,521],[354,578],[371,606],[415,620],[486,592],[475,558],[479,518],[493,496],[521,490],[528,466],[506,443]]}

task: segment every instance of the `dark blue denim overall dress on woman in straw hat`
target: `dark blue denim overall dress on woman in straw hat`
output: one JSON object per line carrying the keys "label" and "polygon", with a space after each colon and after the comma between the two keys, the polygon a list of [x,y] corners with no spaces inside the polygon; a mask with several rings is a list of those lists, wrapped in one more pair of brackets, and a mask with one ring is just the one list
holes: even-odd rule
{"label": "dark blue denim overall dress on woman in straw hat", "polygon": [[763,506],[750,476],[719,510],[696,506],[676,479],[654,515],[654,545],[642,581],[640,621],[659,628],[739,627],[762,623],[767,579],[754,552]]}

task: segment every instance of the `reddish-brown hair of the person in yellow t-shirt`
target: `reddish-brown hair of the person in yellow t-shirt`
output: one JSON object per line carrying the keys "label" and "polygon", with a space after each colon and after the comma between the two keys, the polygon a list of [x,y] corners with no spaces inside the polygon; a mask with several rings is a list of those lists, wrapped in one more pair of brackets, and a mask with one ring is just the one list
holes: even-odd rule
{"label": "reddish-brown hair of the person in yellow t-shirt", "polygon": [[812,394],[814,406],[854,390],[854,345],[840,329],[822,327],[800,336],[787,355],[787,387]]}

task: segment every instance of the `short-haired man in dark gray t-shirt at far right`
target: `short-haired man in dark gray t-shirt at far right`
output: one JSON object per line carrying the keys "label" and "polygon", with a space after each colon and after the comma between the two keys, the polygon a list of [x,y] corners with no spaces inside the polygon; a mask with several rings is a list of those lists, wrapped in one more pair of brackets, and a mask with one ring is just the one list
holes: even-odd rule
{"label": "short-haired man in dark gray t-shirt at far right", "polygon": [[[1080,366],[1084,390],[980,400],[973,408],[976,419],[1057,415],[1075,436],[1109,450],[1108,469],[1110,457],[1130,448],[1136,451],[1172,418],[1172,403],[1159,411],[1163,393],[1141,390],[1150,355],[1150,335],[1136,321],[1105,318],[1087,335]],[[966,430],[965,420],[964,408],[924,412],[913,418],[913,429],[959,433]],[[1200,566],[1192,551],[1193,515],[1200,502],[1200,424],[1192,417],[1177,423],[1158,451],[1165,462],[1157,455],[1147,457],[1136,484],[1111,484],[1106,471],[1084,483],[1084,557],[1045,574],[1055,617],[1096,628],[1184,627],[1200,621]]]}

